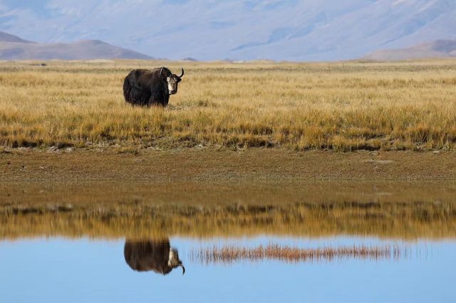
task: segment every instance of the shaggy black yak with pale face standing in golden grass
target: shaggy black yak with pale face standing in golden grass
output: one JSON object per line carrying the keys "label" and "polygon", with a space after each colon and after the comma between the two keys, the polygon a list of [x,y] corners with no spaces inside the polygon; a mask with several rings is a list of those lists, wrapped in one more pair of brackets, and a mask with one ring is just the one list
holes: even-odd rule
{"label": "shaggy black yak with pale face standing in golden grass", "polygon": [[132,70],[123,81],[123,96],[131,105],[165,107],[168,105],[170,95],[177,93],[177,83],[184,75],[171,73],[165,67],[152,70]]}

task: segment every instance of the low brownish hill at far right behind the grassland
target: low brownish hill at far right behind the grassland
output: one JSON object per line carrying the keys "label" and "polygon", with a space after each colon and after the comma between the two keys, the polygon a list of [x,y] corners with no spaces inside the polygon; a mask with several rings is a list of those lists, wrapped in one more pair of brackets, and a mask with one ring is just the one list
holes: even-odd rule
{"label": "low brownish hill at far right behind the grassland", "polygon": [[452,58],[456,57],[455,40],[436,40],[421,43],[408,48],[376,50],[364,57],[366,60],[395,61],[423,58]]}

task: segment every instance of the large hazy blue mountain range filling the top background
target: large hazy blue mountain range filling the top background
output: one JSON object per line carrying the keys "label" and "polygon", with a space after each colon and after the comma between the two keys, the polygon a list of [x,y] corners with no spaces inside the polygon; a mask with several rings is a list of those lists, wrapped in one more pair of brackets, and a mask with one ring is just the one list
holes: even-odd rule
{"label": "large hazy blue mountain range filling the top background", "polygon": [[0,30],[155,58],[347,60],[456,39],[456,1],[0,0]]}

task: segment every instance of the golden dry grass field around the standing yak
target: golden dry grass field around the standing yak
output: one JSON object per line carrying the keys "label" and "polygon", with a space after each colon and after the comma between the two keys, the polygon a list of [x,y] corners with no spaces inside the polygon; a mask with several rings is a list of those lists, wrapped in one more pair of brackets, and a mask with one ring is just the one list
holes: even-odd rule
{"label": "golden dry grass field around the standing yak", "polygon": [[[182,65],[170,106],[125,104],[133,68]],[[453,149],[456,62],[0,64],[0,145]]]}

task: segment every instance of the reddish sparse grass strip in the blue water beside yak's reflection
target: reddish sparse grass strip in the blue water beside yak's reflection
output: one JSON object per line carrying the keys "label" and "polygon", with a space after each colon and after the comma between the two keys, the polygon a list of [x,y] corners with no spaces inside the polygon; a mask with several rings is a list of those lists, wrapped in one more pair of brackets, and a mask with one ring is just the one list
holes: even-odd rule
{"label": "reddish sparse grass strip in the blue water beside yak's reflection", "polygon": [[282,262],[318,262],[354,258],[358,260],[398,260],[408,255],[409,249],[398,245],[366,246],[353,245],[338,248],[291,248],[269,244],[257,248],[239,248],[225,246],[222,248],[204,248],[191,250],[192,262],[203,264],[234,263],[239,260],[260,261],[280,260]]}

